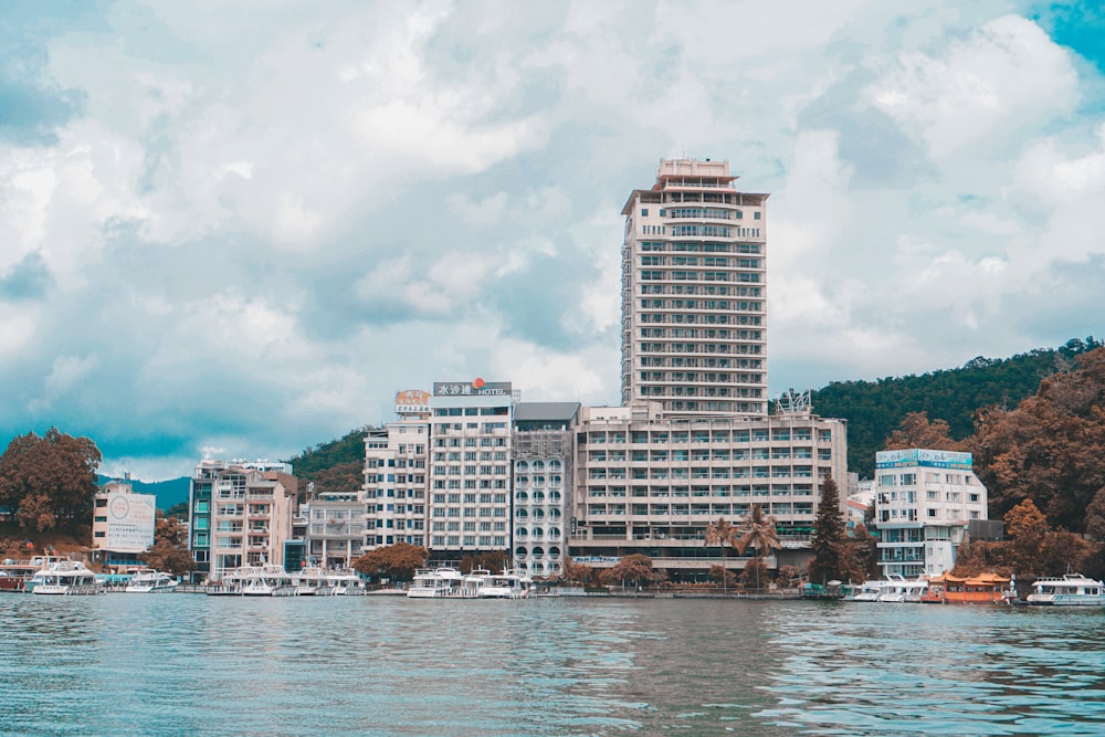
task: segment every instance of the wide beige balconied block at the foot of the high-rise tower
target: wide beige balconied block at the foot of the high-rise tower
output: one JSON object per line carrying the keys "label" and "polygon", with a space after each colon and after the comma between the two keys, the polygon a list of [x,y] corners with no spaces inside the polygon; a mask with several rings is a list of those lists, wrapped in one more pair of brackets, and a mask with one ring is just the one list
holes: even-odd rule
{"label": "wide beige balconied block at the foot of the high-rise tower", "polygon": [[[842,420],[810,412],[678,419],[659,402],[585,407],[571,555],[604,567],[643,552],[673,577],[702,579],[723,557],[705,548],[706,526],[719,517],[736,524],[759,505],[776,518],[783,543],[768,565],[801,565],[821,483],[845,477],[845,435]],[[740,568],[745,560],[726,562]]]}

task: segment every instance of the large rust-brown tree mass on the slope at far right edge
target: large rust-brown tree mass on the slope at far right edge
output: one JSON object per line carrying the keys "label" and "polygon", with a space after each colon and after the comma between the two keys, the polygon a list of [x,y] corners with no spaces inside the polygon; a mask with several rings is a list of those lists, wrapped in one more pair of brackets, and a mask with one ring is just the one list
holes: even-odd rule
{"label": "large rust-brown tree mass on the slope at far right edge", "polygon": [[991,516],[1029,498],[1052,525],[1085,530],[1086,510],[1105,487],[1105,348],[1075,361],[1075,370],[1044,379],[1015,409],[978,413],[967,450]]}

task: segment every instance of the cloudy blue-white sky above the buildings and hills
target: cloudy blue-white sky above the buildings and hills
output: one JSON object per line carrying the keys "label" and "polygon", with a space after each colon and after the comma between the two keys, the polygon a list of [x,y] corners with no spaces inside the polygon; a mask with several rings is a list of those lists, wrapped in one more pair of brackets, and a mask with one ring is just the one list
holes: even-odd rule
{"label": "cloudy blue-white sky above the buildings and hills", "polygon": [[433,381],[617,404],[673,157],[771,193],[772,397],[1105,334],[1095,3],[9,0],[0,441],[156,481]]}

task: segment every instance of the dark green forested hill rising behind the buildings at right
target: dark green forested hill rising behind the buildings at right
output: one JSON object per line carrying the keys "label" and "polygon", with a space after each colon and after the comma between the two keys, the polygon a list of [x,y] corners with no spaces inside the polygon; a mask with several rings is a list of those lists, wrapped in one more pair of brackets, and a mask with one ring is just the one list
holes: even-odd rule
{"label": "dark green forested hill rising behind the buildings at right", "polygon": [[975,432],[975,412],[983,407],[1013,409],[1035,394],[1040,380],[1073,368],[1078,354],[1102,347],[1092,336],[1060,348],[1038,348],[1012,358],[979,356],[962,366],[877,381],[834,381],[813,392],[813,411],[848,420],[848,467],[870,478],[875,452],[909,412],[944,420],[962,440]]}

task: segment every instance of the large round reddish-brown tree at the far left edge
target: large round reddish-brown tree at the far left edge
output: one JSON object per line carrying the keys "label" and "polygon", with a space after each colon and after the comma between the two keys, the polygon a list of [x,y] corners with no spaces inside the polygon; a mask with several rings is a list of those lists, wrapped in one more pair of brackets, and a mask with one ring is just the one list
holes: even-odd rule
{"label": "large round reddish-brown tree at the far left edge", "polygon": [[0,505],[34,531],[90,525],[99,462],[95,443],[57,428],[14,438],[0,456]]}

